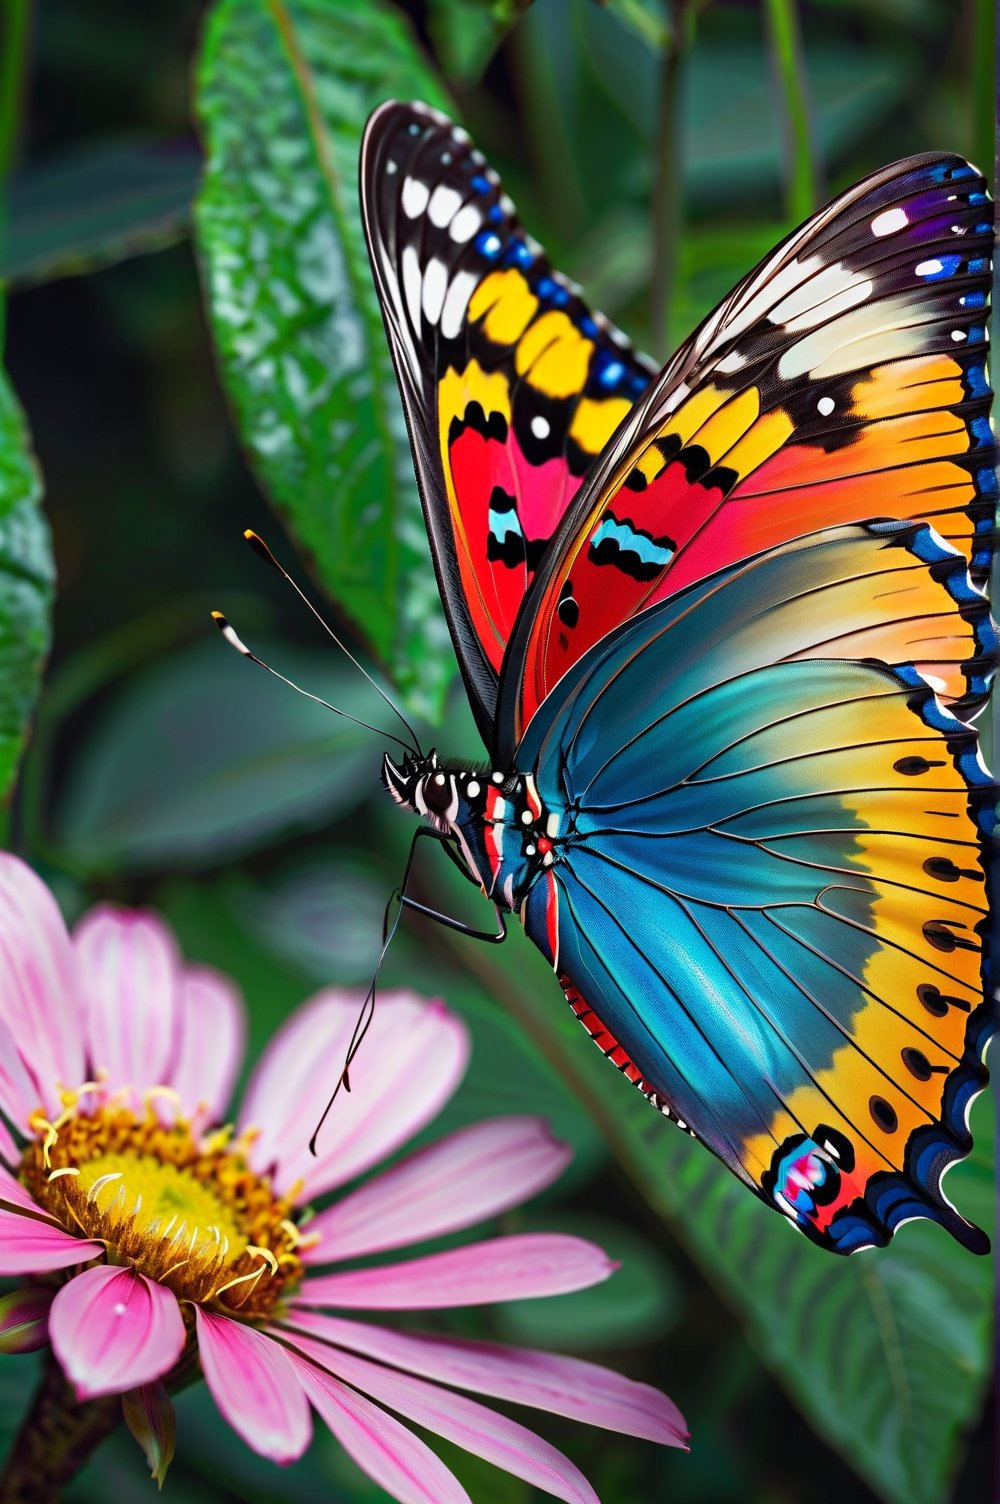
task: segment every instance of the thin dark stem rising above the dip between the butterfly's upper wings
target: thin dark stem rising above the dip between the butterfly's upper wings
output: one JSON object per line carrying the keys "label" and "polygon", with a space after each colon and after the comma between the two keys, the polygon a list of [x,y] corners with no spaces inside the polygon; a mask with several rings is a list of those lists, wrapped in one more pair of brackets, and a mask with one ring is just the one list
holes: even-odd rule
{"label": "thin dark stem rising above the dip between the butterfly's upper wings", "polygon": [[686,0],[666,0],[669,32],[660,57],[660,102],[656,125],[653,180],[653,287],[650,323],[653,353],[660,359],[674,349],[671,308],[677,290],[683,227],[681,110],[684,60],[693,32],[693,11]]}

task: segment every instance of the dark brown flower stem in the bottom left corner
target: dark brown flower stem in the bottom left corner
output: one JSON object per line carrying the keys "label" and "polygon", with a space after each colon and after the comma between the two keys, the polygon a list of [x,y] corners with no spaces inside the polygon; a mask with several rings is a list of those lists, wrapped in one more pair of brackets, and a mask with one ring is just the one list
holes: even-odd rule
{"label": "dark brown flower stem in the bottom left corner", "polygon": [[0,1504],[57,1499],[122,1418],[117,1394],[78,1400],[53,1357],[0,1478]]}

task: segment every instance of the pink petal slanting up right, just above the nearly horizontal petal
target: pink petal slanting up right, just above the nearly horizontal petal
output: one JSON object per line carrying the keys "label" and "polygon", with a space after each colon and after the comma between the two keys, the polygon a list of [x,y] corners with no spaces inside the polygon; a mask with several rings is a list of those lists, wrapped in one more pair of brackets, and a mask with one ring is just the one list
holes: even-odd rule
{"label": "pink petal slanting up right, just above the nearly horizontal petal", "polygon": [[541,1117],[493,1117],[421,1149],[310,1223],[307,1263],[383,1253],[496,1217],[550,1185],[573,1158]]}

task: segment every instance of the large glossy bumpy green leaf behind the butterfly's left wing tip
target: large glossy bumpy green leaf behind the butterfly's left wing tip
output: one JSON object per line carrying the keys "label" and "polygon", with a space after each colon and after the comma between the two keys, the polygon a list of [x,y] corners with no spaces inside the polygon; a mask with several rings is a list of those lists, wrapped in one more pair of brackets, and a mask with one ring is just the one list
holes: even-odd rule
{"label": "large glossy bumpy green leaf behind the butterfly's left wing tip", "polygon": [[368,113],[445,105],[408,24],[371,0],[221,0],[198,65],[195,232],[251,463],[408,702],[456,674],[358,208]]}

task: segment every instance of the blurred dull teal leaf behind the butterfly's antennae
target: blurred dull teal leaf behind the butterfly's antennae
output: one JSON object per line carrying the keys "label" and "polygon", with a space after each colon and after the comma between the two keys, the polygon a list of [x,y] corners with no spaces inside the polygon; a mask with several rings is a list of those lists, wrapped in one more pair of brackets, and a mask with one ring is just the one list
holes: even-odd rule
{"label": "blurred dull teal leaf behind the butterfly's antennae", "polygon": [[[368,708],[368,686],[329,653],[260,648],[335,705]],[[377,766],[371,743],[212,632],[129,675],[95,713],[54,842],[89,874],[217,866],[358,803]]]}

